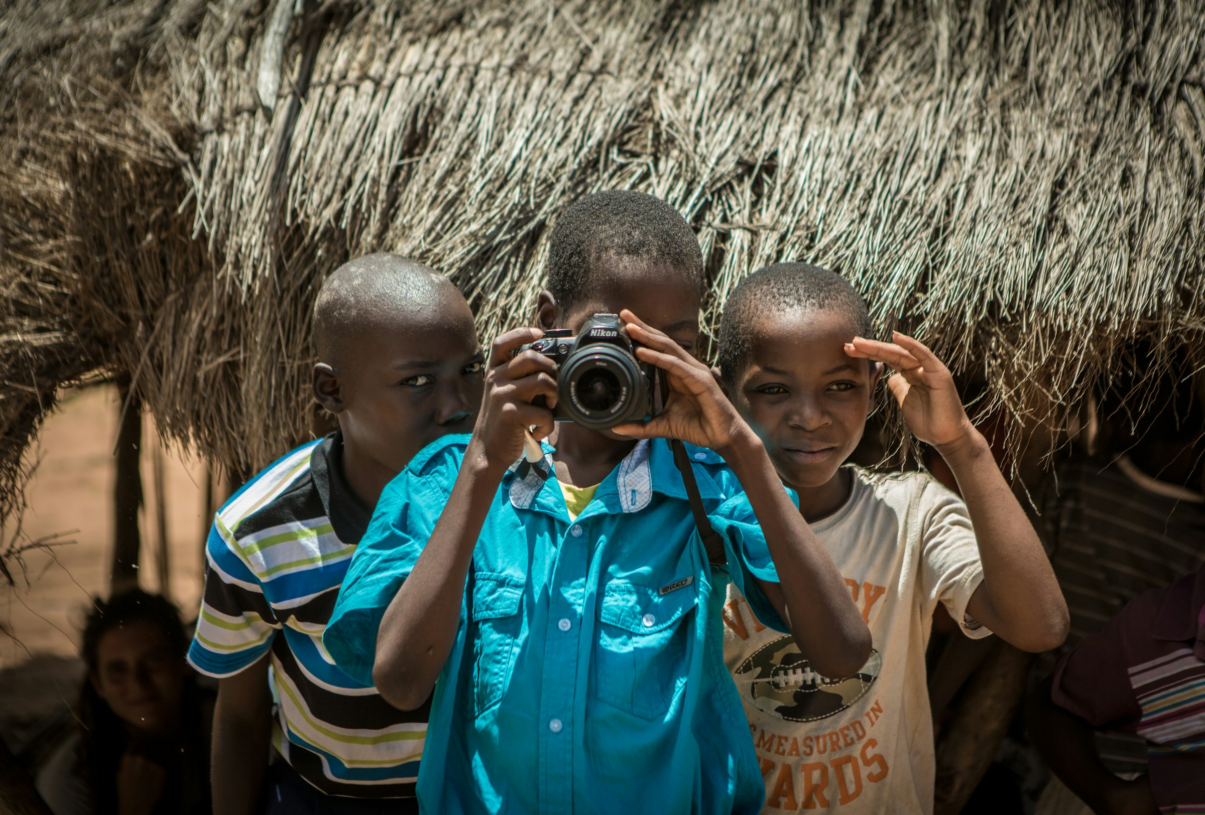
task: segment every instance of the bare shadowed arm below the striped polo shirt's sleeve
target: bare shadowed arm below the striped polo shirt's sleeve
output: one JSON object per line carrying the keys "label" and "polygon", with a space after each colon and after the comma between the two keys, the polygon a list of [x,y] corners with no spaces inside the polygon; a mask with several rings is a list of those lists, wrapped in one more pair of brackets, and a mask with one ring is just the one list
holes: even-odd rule
{"label": "bare shadowed arm below the striped polo shirt's sleeve", "polygon": [[272,697],[268,687],[268,660],[264,656],[218,684],[210,748],[214,815],[259,811],[264,774],[271,760]]}

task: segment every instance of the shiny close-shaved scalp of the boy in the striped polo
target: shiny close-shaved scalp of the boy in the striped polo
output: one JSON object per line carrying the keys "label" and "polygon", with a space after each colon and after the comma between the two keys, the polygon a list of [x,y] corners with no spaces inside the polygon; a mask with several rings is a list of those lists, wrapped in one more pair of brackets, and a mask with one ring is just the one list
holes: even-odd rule
{"label": "shiny close-shaved scalp of the boy in the striped polo", "polygon": [[447,307],[468,313],[457,288],[430,266],[389,253],[364,255],[336,268],[322,284],[313,308],[315,350],[319,361],[337,367],[349,335]]}

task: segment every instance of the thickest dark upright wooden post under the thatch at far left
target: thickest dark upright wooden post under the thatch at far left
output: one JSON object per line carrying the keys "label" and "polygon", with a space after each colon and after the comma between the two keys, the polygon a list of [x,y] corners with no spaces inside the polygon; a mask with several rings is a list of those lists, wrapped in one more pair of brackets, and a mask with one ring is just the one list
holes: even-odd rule
{"label": "thickest dark upright wooden post under the thatch at far left", "polygon": [[142,442],[142,404],[130,383],[118,383],[120,418],[117,427],[117,478],[113,482],[113,567],[110,591],[117,593],[139,585],[139,508],[142,506],[142,476],[139,453]]}

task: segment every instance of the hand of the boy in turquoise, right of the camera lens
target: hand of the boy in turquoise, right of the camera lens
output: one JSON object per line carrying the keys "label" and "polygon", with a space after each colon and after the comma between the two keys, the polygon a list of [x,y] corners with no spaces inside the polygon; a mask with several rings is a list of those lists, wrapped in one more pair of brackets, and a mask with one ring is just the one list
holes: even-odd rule
{"label": "hand of the boy in turquoise, right of the camera lens", "polygon": [[643,346],[636,356],[665,372],[669,396],[660,415],[624,423],[615,432],[631,438],[681,438],[721,454],[752,435],[706,365],[627,308],[619,318],[628,324],[628,336]]}

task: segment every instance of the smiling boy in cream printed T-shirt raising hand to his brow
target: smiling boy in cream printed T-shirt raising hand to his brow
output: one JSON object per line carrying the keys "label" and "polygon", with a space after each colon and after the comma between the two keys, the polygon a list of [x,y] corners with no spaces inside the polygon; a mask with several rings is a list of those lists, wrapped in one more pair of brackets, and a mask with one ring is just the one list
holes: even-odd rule
{"label": "smiling boy in cream printed T-shirt raising hand to his brow", "polygon": [[[884,343],[868,333],[853,288],[805,264],[751,274],[728,299],[719,329],[729,397],[798,492],[874,638],[860,672],[822,677],[729,587],[725,662],[745,702],[768,813],[933,811],[924,650],[939,602],[969,637],[995,632],[1046,651],[1066,636],[1054,573],[950,371],[911,337]],[[923,473],[842,466],[883,364],[894,370],[887,388],[909,427],[942,455],[963,500]]]}

